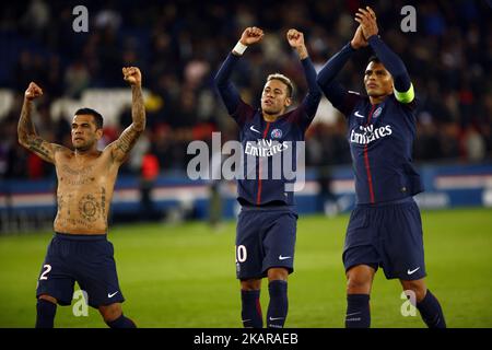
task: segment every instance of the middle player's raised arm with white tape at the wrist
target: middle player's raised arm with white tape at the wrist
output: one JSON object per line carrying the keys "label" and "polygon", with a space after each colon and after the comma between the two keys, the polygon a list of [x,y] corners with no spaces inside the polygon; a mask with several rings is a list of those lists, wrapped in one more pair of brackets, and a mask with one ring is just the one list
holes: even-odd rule
{"label": "middle player's raised arm with white tape at the wrist", "polygon": [[246,48],[251,44],[260,42],[262,37],[263,32],[260,28],[257,28],[256,26],[247,27],[241,35],[241,39],[237,45],[229,54],[227,58],[215,74],[215,85],[230,115],[233,115],[236,112],[241,101],[239,92],[231,82],[231,74]]}

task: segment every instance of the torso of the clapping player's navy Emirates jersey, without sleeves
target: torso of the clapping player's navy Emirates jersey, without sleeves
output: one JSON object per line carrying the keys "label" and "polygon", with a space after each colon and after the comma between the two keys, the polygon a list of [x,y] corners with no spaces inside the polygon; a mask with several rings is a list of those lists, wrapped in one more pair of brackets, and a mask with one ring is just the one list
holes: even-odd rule
{"label": "torso of the clapping player's navy Emirates jersey, without sleeves", "polygon": [[412,165],[417,101],[403,104],[391,94],[372,105],[368,96],[348,92],[335,106],[348,121],[358,203],[401,199],[423,191]]}

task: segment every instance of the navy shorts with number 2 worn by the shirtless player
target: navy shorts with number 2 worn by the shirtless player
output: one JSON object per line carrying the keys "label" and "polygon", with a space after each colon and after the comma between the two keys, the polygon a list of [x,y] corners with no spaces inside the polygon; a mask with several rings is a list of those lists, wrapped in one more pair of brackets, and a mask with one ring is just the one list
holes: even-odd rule
{"label": "navy shorts with number 2 worn by the shirtless player", "polygon": [[47,294],[70,305],[75,281],[92,307],[122,303],[113,244],[107,235],[56,233],[39,273],[36,298]]}

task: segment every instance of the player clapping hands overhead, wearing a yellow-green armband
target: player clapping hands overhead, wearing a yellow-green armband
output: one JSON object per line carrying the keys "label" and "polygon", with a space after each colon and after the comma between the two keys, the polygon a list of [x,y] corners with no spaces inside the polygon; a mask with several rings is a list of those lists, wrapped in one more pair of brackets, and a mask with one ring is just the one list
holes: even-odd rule
{"label": "player clapping hands overhead, wearing a yellow-green armband", "polygon": [[[412,164],[415,96],[401,59],[378,36],[376,14],[359,9],[354,37],[320,70],[317,81],[344,114],[355,176],[356,207],[343,249],[347,275],[345,327],[370,327],[370,293],[380,266],[387,279],[399,279],[413,293],[429,327],[444,328],[443,311],[425,284],[420,210],[413,196],[423,190]],[[359,48],[376,56],[364,73],[366,95],[347,91],[336,75]],[[412,299],[411,299],[412,300]]]}

